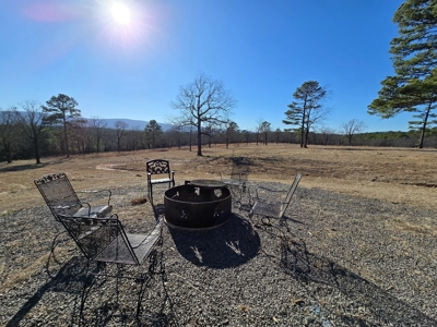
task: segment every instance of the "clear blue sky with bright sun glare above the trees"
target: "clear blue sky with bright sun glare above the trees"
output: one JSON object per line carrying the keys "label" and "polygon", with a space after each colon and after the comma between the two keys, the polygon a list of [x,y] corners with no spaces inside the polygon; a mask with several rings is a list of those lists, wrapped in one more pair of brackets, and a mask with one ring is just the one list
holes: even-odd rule
{"label": "clear blue sky with bright sun glare above the trees", "polygon": [[237,107],[231,119],[255,130],[282,123],[293,93],[318,81],[332,95],[324,126],[357,119],[366,132],[406,131],[410,114],[367,113],[393,74],[390,40],[401,0],[2,1],[0,108],[67,94],[85,118],[168,122],[179,87],[203,72]]}

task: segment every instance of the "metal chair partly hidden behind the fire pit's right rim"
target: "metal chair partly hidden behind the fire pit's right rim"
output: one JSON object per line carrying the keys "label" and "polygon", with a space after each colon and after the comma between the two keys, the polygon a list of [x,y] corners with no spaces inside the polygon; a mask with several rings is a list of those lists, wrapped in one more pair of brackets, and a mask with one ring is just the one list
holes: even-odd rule
{"label": "metal chair partly hidden behind the fire pit's right rim", "polygon": [[[221,179],[233,193],[234,199],[236,199],[237,203],[240,203],[243,192],[249,191],[247,187],[247,181],[249,178],[250,162],[246,157],[232,157],[232,161],[233,167],[231,171],[222,171]],[[237,194],[238,196],[236,196]]]}

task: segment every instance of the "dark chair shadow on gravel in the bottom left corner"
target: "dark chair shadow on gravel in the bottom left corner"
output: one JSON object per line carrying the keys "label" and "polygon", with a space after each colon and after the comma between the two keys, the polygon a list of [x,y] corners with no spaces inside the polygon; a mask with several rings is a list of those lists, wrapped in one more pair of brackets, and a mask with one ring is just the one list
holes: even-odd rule
{"label": "dark chair shadow on gravel in the bottom left corner", "polygon": [[48,282],[43,284],[33,294],[22,307],[14,314],[14,316],[8,322],[7,327],[19,326],[21,320],[32,311],[32,308],[38,304],[43,295],[48,292],[68,292],[75,294],[74,306],[80,304],[80,294],[82,292],[83,283],[85,282],[86,275],[86,263],[80,257],[72,257],[68,261]]}

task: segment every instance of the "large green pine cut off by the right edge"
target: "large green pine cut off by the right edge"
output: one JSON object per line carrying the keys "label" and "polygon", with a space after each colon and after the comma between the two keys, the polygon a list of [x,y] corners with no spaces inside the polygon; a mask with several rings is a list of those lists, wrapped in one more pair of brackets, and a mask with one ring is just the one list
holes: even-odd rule
{"label": "large green pine cut off by the right edge", "polygon": [[411,129],[425,132],[437,124],[433,110],[437,101],[437,7],[433,0],[406,0],[394,13],[399,36],[390,53],[395,75],[381,82],[378,98],[368,106],[369,114],[391,118],[399,112],[415,112]]}

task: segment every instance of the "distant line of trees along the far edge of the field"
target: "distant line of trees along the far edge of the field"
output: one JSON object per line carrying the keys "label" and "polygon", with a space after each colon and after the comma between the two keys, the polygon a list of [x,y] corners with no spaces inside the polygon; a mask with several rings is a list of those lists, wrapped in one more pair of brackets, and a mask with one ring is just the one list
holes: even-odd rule
{"label": "distant line of trees along the far edge of the field", "polygon": [[[63,101],[68,99],[64,95],[55,98]],[[144,130],[130,129],[123,121],[117,121],[113,128],[108,128],[101,118],[84,119],[79,110],[73,110],[74,108],[67,102],[51,100],[55,100],[54,98],[49,101],[58,104],[56,106],[64,111],[50,111],[54,107],[50,109],[48,105],[40,106],[36,101],[26,101],[19,108],[0,110],[0,161],[12,162],[15,159],[34,158],[36,164],[40,164],[40,158],[49,156],[68,157],[172,147],[192,150],[192,147],[198,145],[212,147],[225,144],[232,147],[238,144],[302,144],[303,137],[299,129],[274,130],[271,129],[271,123],[264,120],[259,120],[253,131],[240,130],[236,122],[228,121],[221,126],[203,126],[199,144],[194,126],[173,125],[164,131],[155,120],[150,120]],[[49,110],[43,110],[44,107]],[[51,116],[54,113],[56,116]],[[340,131],[320,128],[305,132],[305,143],[306,146],[417,146],[417,131],[361,133],[359,128],[361,122],[356,120],[344,123]],[[437,129],[425,133],[424,146],[437,147]]]}

